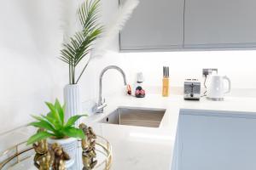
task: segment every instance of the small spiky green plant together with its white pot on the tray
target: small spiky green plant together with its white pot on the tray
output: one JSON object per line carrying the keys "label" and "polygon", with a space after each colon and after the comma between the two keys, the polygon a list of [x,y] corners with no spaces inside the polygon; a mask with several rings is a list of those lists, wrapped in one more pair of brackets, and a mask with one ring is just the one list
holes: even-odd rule
{"label": "small spiky green plant together with its white pot on the tray", "polygon": [[84,139],[84,133],[81,129],[75,127],[75,122],[80,117],[86,115],[77,115],[70,117],[65,122],[65,105],[60,104],[59,100],[55,100],[55,104],[46,102],[49,108],[49,113],[44,116],[32,116],[36,122],[31,122],[28,125],[38,128],[43,128],[44,131],[35,133],[27,140],[27,144],[34,144],[39,140],[47,139],[48,144],[61,144],[63,150],[70,156],[70,160],[66,162],[66,167],[73,165],[76,149],[77,139]]}

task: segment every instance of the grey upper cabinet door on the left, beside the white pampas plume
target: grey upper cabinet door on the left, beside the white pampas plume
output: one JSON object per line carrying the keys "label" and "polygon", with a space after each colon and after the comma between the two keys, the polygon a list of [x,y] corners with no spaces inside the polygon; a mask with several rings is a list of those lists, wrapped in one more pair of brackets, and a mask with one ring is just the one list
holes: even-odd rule
{"label": "grey upper cabinet door on the left, beside the white pampas plume", "polygon": [[140,0],[120,32],[120,50],[182,48],[183,3],[183,0]]}

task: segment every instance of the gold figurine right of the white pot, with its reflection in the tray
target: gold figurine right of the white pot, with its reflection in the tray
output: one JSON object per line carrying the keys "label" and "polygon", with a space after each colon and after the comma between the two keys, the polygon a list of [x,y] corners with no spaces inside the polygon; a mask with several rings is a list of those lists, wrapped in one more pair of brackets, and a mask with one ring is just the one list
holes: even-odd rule
{"label": "gold figurine right of the white pot, with its reflection in the tray", "polygon": [[96,158],[96,134],[93,132],[91,127],[87,127],[84,123],[79,125],[79,128],[83,130],[86,138],[82,139],[82,159],[83,159],[83,170],[90,170],[96,166],[97,161],[94,160]]}

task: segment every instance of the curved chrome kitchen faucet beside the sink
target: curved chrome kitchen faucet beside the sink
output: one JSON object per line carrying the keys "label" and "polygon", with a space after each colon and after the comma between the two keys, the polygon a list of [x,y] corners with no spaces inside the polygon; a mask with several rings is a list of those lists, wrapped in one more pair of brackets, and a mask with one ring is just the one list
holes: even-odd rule
{"label": "curved chrome kitchen faucet beside the sink", "polygon": [[127,81],[126,81],[126,76],[125,76],[125,71],[123,71],[119,66],[116,65],[109,65],[106,68],[104,68],[100,74],[100,81],[99,81],[99,99],[98,99],[98,103],[96,104],[96,108],[95,108],[95,112],[96,113],[102,113],[103,112],[103,108],[105,106],[107,106],[107,104],[105,103],[105,101],[102,101],[102,77],[104,75],[104,73],[110,69],[114,69],[117,70],[121,73],[121,75],[124,78],[124,84],[127,85]]}

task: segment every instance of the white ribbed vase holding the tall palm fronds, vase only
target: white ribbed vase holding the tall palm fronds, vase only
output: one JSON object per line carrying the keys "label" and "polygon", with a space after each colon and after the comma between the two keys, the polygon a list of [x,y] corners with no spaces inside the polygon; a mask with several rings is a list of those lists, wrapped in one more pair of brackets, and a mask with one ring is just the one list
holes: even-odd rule
{"label": "white ribbed vase holding the tall palm fronds, vase only", "polygon": [[81,99],[79,84],[67,84],[64,88],[64,102],[66,105],[65,119],[81,114]]}

